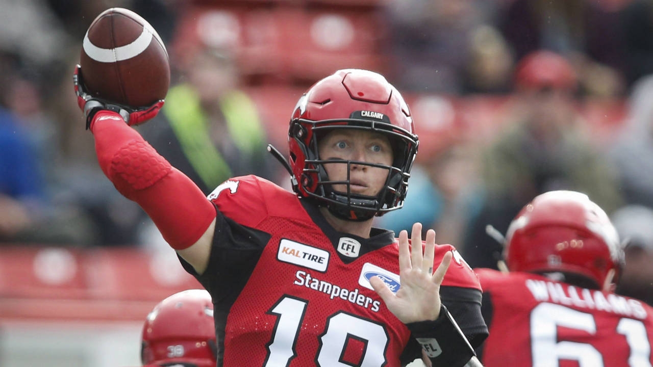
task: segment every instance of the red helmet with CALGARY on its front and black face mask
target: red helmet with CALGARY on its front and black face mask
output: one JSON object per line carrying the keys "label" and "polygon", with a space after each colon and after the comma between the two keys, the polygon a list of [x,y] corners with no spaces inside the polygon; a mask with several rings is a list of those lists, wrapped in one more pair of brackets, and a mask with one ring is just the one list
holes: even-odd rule
{"label": "red helmet with CALGARY on its front and black face mask", "polygon": [[[317,138],[332,129],[362,129],[386,135],[394,162],[387,165],[318,156]],[[343,219],[365,220],[401,208],[417,153],[417,135],[402,95],[381,74],[360,69],[336,71],[314,84],[299,99],[288,131],[293,189],[301,197],[319,200]],[[316,137],[317,136],[317,137]],[[324,163],[368,165],[389,170],[376,196],[356,195],[349,180],[330,181]],[[332,185],[343,184],[347,192]]]}

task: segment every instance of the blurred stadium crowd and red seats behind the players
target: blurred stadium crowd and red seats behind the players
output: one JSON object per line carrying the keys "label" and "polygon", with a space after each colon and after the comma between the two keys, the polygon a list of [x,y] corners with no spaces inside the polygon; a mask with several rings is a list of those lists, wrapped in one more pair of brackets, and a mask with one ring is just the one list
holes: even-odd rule
{"label": "blurred stadium crowd and red seats behind the players", "polygon": [[200,285],[97,165],[71,75],[95,16],[134,10],[172,67],[138,130],[205,193],[290,187],[293,107],[337,69],[381,72],[421,140],[405,207],[496,268],[518,210],[582,191],[626,246],[618,292],[653,303],[653,0],[0,0],[0,365],[139,366],[151,308]]}

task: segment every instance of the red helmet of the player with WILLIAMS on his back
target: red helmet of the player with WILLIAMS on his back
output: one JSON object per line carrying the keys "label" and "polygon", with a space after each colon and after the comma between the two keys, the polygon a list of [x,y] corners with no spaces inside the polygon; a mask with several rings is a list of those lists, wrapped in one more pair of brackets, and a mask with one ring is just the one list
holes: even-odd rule
{"label": "red helmet of the player with WILLIAMS on his back", "polygon": [[505,259],[511,271],[562,272],[601,288],[616,281],[623,252],[607,214],[582,193],[549,191],[524,206],[508,227]]}

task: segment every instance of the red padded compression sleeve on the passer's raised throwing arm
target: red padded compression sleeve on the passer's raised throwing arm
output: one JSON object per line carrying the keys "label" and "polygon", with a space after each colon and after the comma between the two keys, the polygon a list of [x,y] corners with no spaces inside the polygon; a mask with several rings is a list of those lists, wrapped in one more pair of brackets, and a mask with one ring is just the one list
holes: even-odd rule
{"label": "red padded compression sleeve on the passer's raised throwing arm", "polygon": [[150,215],[174,249],[195,244],[215,218],[199,187],[115,112],[95,114],[91,132],[100,168],[116,189]]}

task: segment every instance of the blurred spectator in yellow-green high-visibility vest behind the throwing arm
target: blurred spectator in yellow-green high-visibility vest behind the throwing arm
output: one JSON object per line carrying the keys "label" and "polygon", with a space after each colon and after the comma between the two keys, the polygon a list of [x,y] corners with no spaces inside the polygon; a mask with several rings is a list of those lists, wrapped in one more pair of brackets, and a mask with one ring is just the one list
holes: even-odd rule
{"label": "blurred spectator in yellow-green high-visibility vest behind the throwing arm", "polygon": [[168,91],[161,118],[142,129],[150,144],[207,195],[233,176],[270,179],[265,127],[239,89],[233,55],[202,48],[182,67],[183,82]]}

